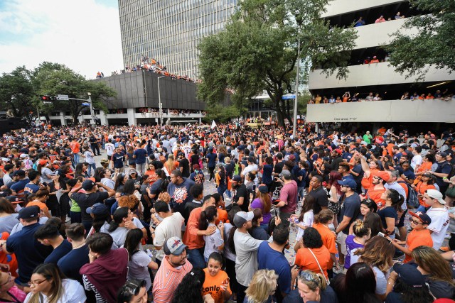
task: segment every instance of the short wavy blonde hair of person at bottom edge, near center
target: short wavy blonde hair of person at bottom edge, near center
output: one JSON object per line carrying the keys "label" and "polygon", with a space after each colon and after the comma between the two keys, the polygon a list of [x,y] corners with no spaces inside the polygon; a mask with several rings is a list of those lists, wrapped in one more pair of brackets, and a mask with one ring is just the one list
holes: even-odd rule
{"label": "short wavy blonde hair of person at bottom edge, near center", "polygon": [[278,275],[274,270],[257,270],[253,275],[250,286],[245,290],[247,303],[269,302],[269,298],[277,290]]}

